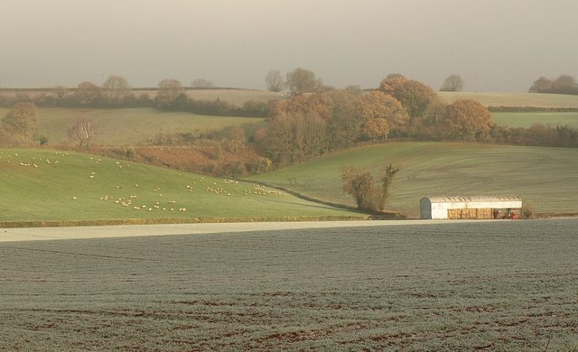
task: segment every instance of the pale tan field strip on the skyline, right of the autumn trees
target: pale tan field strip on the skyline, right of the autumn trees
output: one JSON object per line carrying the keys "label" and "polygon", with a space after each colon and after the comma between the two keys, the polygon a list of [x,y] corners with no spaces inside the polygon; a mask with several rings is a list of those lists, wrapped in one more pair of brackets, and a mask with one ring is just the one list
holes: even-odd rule
{"label": "pale tan field strip on the skyline, right of the autumn trees", "polygon": [[437,92],[437,95],[449,104],[458,99],[473,99],[485,107],[578,108],[578,96],[565,94]]}

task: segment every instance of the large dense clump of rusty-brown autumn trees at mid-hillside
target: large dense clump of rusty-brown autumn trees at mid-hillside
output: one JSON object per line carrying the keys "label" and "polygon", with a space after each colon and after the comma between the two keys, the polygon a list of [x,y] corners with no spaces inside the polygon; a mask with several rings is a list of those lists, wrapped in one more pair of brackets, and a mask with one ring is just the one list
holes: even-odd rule
{"label": "large dense clump of rusty-brown autumn trees at mid-hillside", "polygon": [[255,141],[284,166],[366,141],[389,138],[478,141],[490,139],[491,113],[474,100],[447,105],[432,88],[391,75],[378,89],[331,89],[294,94],[268,110],[269,124]]}

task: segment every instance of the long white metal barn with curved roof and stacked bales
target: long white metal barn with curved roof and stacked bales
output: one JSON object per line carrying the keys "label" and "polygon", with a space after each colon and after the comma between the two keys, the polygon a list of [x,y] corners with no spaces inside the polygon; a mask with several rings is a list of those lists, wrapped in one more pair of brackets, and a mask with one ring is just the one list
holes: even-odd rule
{"label": "long white metal barn with curved roof and stacked bales", "polygon": [[517,196],[424,197],[420,218],[511,218],[518,217],[521,208]]}

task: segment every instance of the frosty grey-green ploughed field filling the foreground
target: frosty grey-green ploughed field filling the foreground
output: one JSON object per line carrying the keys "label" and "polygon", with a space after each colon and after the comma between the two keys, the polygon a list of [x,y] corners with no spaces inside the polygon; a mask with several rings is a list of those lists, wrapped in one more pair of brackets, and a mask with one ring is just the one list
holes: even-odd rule
{"label": "frosty grey-green ploughed field filling the foreground", "polygon": [[0,350],[575,350],[576,228],[416,221],[0,243]]}

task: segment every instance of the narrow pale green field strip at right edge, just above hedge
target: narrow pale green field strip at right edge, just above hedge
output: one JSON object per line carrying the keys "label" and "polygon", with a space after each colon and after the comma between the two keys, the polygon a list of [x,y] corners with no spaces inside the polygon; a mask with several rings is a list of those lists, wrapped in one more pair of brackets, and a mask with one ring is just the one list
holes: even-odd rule
{"label": "narrow pale green field strip at right edge, just above hedge", "polygon": [[555,128],[556,125],[568,125],[578,129],[578,113],[492,113],[492,119],[497,125],[529,128],[534,124],[542,124]]}

